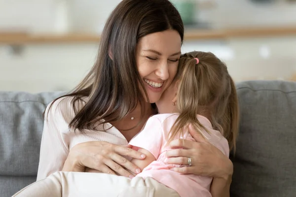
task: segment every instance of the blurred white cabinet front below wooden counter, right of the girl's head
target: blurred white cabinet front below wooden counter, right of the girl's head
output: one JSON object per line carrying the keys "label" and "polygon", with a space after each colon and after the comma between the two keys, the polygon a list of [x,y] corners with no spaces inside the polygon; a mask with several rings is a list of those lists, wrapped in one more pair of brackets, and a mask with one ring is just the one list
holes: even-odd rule
{"label": "blurred white cabinet front below wooden counter, right of the girl's head", "polygon": [[185,42],[183,52],[192,50],[216,54],[235,81],[289,80],[296,73],[296,36]]}

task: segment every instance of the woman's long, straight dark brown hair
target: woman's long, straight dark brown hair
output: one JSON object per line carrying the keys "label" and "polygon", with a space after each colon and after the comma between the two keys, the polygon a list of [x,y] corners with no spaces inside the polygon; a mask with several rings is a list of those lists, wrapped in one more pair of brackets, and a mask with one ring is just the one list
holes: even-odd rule
{"label": "woman's long, straight dark brown hair", "polygon": [[136,45],[142,37],[165,30],[176,30],[183,41],[181,16],[169,0],[122,0],[116,6],[103,30],[95,65],[74,91],[63,96],[73,97],[74,110],[76,102],[88,98],[75,110],[70,127],[83,132],[97,123],[117,122],[138,103],[143,118],[148,96],[136,65]]}

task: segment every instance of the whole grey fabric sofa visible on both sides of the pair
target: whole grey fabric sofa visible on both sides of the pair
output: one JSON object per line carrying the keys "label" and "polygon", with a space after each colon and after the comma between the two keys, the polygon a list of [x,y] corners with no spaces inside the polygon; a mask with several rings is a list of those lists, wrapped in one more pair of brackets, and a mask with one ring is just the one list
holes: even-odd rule
{"label": "whole grey fabric sofa visible on both sides of the pair", "polygon": [[[246,81],[237,91],[231,197],[296,197],[296,83]],[[42,112],[61,94],[0,92],[0,197],[36,180]]]}

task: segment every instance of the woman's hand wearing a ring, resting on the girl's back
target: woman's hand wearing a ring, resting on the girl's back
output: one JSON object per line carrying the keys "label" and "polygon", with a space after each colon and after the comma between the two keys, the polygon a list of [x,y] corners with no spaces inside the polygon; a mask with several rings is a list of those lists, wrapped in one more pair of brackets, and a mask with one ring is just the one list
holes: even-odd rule
{"label": "woman's hand wearing a ring, resting on the girl's back", "polygon": [[[170,143],[174,150],[167,151],[167,164],[188,164],[191,166],[175,167],[172,170],[184,173],[229,179],[233,173],[233,164],[217,147],[204,139],[199,133],[189,126],[189,133],[196,142],[178,139]],[[183,149],[181,149],[183,148]]]}

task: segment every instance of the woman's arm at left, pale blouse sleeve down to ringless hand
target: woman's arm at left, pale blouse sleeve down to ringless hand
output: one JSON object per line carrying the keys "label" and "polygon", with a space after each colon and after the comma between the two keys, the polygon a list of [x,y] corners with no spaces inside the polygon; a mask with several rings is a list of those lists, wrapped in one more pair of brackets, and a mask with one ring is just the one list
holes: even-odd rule
{"label": "woman's arm at left, pale blouse sleeve down to ringless hand", "polygon": [[131,175],[126,169],[137,173],[139,168],[122,155],[139,160],[146,156],[129,147],[105,141],[88,141],[75,145],[69,151],[70,139],[67,138],[67,128],[71,120],[68,119],[74,115],[74,111],[71,111],[71,99],[58,99],[50,108],[49,106],[51,104],[45,110],[37,180],[61,170],[84,172],[86,167],[126,177]]}

